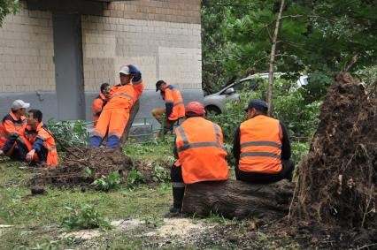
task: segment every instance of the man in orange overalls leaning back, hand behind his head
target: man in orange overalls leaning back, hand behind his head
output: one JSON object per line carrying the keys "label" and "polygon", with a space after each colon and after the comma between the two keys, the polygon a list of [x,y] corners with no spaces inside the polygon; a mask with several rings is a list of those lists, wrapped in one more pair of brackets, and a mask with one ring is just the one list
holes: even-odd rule
{"label": "man in orange overalls leaning back, hand behind his head", "polygon": [[107,136],[106,148],[117,148],[123,135],[129,113],[142,95],[142,73],[132,64],[119,71],[120,84],[109,91],[109,101],[104,106],[96,128],[89,139],[90,146],[99,147]]}

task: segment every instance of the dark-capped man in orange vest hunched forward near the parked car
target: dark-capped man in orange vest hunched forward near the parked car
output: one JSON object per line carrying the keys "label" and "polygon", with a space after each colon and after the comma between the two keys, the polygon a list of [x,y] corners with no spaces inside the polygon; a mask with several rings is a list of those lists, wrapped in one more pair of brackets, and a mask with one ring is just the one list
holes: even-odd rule
{"label": "dark-capped man in orange vest hunched forward near the parked car", "polygon": [[[162,114],[165,113],[165,131],[171,129],[174,123],[185,116],[185,104],[181,96],[180,90],[173,87],[173,85],[167,85],[165,81],[158,80],[156,83],[156,92],[161,91],[162,99],[165,101],[165,109],[152,110],[152,116],[158,120],[161,124]],[[160,132],[158,132],[158,137]]]}

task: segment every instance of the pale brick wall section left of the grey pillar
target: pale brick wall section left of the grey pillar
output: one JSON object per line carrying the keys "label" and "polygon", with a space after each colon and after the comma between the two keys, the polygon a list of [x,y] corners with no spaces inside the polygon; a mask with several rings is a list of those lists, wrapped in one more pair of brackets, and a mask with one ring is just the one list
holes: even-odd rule
{"label": "pale brick wall section left of the grey pillar", "polygon": [[49,11],[22,10],[0,28],[0,92],[55,91]]}

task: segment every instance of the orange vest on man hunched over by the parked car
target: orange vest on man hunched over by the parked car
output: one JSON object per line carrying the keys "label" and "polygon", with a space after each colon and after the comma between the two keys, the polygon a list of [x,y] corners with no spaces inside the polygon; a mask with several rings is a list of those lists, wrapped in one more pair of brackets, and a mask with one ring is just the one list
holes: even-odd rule
{"label": "orange vest on man hunched over by the parked car", "polygon": [[168,117],[169,120],[174,121],[185,116],[185,104],[181,96],[181,91],[169,85],[169,87],[165,88],[164,100],[165,102],[173,103],[173,111]]}

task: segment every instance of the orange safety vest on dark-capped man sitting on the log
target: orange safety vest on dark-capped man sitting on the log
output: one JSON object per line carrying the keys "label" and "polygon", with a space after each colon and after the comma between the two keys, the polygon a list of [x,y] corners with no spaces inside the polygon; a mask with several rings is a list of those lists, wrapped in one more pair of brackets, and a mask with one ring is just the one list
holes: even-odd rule
{"label": "orange safety vest on dark-capped man sitting on the log", "polygon": [[281,170],[279,120],[258,115],[240,125],[240,135],[240,170],[260,173]]}

